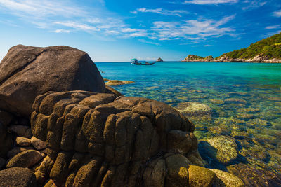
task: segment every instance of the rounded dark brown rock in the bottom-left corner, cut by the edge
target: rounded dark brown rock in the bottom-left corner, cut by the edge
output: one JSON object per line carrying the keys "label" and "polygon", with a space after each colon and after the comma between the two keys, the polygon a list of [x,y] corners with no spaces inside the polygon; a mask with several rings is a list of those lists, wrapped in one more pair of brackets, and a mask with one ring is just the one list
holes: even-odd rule
{"label": "rounded dark brown rock in the bottom-left corner, cut by the edge", "polygon": [[30,169],[12,167],[0,171],[0,186],[36,187],[37,181]]}

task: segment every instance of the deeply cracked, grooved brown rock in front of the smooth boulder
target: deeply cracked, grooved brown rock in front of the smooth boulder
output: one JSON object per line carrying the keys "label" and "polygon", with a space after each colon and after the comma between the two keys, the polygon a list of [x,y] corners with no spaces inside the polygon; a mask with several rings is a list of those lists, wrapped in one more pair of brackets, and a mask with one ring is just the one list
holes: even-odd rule
{"label": "deeply cracked, grooved brown rock in front of the smooth boulder", "polygon": [[194,125],[161,102],[47,92],[33,109],[32,134],[47,144],[42,185],[188,186],[189,165],[203,165]]}

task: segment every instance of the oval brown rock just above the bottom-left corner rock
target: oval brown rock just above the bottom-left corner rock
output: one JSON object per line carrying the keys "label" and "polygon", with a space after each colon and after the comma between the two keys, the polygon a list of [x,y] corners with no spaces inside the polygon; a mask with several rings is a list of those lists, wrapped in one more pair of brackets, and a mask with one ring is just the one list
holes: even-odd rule
{"label": "oval brown rock just above the bottom-left corner rock", "polygon": [[27,150],[15,155],[7,164],[9,167],[32,167],[41,160],[39,151]]}

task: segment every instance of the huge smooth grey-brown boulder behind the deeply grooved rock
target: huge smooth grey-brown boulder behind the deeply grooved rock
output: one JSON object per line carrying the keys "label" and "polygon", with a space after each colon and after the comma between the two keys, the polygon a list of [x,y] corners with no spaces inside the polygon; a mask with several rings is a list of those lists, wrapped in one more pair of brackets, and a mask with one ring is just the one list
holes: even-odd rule
{"label": "huge smooth grey-brown boulder behind the deeply grooved rock", "polygon": [[105,92],[89,55],[68,46],[14,46],[0,64],[0,109],[30,116],[37,95],[48,91]]}

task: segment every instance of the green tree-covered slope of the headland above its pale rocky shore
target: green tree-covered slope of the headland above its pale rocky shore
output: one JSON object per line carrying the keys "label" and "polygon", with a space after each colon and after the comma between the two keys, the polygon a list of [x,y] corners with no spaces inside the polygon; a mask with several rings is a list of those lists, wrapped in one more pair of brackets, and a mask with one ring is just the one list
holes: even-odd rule
{"label": "green tree-covered slope of the headland above its pale rocky shore", "polygon": [[[220,57],[227,56],[233,59],[249,59],[256,57],[256,55],[263,55],[269,59],[281,59],[281,33],[275,34],[256,43],[252,43],[248,48],[224,53]],[[216,59],[219,59],[220,57],[216,57]]]}

